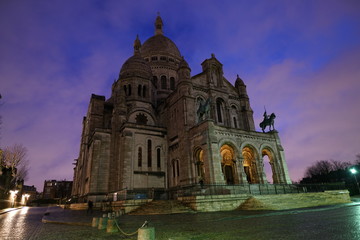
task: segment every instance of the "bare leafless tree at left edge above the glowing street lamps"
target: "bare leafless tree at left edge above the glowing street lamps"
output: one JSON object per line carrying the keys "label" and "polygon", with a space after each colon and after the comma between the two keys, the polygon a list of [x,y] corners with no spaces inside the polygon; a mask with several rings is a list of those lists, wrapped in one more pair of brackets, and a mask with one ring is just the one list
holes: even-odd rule
{"label": "bare leafless tree at left edge above the glowing street lamps", "polygon": [[15,180],[26,180],[29,170],[26,147],[22,144],[5,147],[2,164],[12,169],[12,175]]}

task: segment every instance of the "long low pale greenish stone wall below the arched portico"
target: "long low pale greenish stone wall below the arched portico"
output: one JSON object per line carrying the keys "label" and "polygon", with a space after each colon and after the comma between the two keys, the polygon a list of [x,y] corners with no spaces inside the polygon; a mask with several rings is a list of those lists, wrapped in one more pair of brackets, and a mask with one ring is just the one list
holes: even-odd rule
{"label": "long low pale greenish stone wall below the arched portico", "polygon": [[274,195],[191,196],[179,197],[178,200],[199,212],[231,211],[235,209],[286,210],[351,202],[347,190]]}

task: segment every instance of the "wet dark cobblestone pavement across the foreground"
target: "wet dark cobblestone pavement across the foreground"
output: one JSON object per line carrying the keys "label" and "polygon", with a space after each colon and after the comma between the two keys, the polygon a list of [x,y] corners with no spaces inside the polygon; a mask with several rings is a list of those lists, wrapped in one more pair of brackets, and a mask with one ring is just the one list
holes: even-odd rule
{"label": "wet dark cobblestone pavement across the foreground", "polygon": [[[15,210],[20,214],[22,210]],[[90,226],[72,225],[73,223],[89,224],[93,216],[101,216],[95,211],[71,211],[59,207],[29,208],[25,218],[13,222],[10,229],[13,235],[1,235],[4,221],[10,216],[0,215],[0,239],[137,239],[121,233],[106,233]],[[45,220],[67,224],[41,223],[41,213]],[[14,214],[15,215],[15,214]],[[20,215],[19,215],[20,216]],[[12,219],[14,219],[12,217]],[[360,202],[336,206],[298,209],[290,211],[231,211],[214,213],[192,213],[172,215],[131,216],[125,215],[118,219],[119,226],[125,232],[136,231],[144,221],[155,227],[157,240],[200,240],[200,239],[327,239],[327,240],[358,240],[360,239]],[[32,222],[34,221],[34,222]],[[25,226],[29,224],[29,226]],[[14,228],[15,225],[23,226]],[[11,230],[6,230],[7,234]],[[16,233],[16,231],[18,231]],[[22,235],[23,234],[23,237]]]}

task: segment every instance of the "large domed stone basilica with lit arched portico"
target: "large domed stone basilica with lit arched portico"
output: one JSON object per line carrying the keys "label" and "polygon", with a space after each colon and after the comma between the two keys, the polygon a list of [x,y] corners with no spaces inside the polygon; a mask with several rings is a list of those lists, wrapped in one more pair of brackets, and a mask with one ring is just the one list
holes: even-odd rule
{"label": "large domed stone basilica with lit arched portico", "polygon": [[191,73],[160,16],[154,36],[143,44],[136,37],[111,97],[90,98],[73,196],[100,201],[124,190],[268,184],[264,164],[272,183],[291,183],[277,131],[255,130],[244,81],[225,79],[214,54],[201,66]]}

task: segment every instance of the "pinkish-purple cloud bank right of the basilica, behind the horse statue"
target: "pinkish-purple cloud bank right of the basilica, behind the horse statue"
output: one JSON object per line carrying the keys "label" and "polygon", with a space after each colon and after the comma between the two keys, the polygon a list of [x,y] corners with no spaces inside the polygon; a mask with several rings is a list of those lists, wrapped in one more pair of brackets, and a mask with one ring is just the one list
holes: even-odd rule
{"label": "pinkish-purple cloud bank right of the basilica, behind the horse statue", "polygon": [[268,110],[278,116],[275,124],[293,180],[301,179],[315,161],[355,159],[360,143],[359,61],[360,47],[317,71],[306,63],[285,60],[264,69],[255,76],[262,80],[249,84],[256,122],[262,120],[261,103],[270,103]]}

